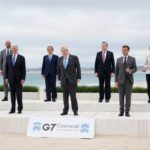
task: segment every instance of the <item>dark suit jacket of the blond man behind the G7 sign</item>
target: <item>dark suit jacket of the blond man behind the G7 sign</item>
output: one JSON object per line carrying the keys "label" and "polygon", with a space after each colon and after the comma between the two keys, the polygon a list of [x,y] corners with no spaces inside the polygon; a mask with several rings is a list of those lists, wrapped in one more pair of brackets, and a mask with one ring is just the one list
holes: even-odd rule
{"label": "dark suit jacket of the blond man behind the G7 sign", "polygon": [[77,84],[77,79],[81,79],[81,68],[77,56],[69,55],[66,69],[63,65],[63,57],[58,59],[58,80],[65,85],[66,79],[72,84]]}

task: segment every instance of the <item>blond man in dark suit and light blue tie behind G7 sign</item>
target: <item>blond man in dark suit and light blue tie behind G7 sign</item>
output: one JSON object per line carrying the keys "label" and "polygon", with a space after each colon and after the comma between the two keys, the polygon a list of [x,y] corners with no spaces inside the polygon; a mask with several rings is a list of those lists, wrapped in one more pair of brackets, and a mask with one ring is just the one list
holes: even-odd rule
{"label": "blond man in dark suit and light blue tie behind G7 sign", "polygon": [[72,110],[78,115],[78,103],[76,98],[77,83],[81,79],[81,68],[77,56],[69,54],[68,48],[61,47],[62,57],[58,59],[58,80],[63,89],[64,109],[61,115],[67,115],[69,110],[69,95],[71,97]]}

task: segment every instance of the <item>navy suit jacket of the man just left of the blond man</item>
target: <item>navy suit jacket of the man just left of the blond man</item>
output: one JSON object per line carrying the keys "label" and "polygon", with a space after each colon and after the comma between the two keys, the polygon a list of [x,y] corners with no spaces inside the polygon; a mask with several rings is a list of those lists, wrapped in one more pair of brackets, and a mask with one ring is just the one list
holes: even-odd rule
{"label": "navy suit jacket of the man just left of the blond man", "polygon": [[50,74],[52,77],[55,77],[57,74],[57,62],[58,62],[57,55],[52,55],[51,62],[49,61],[48,55],[44,56],[41,74],[44,76],[47,76],[48,74]]}

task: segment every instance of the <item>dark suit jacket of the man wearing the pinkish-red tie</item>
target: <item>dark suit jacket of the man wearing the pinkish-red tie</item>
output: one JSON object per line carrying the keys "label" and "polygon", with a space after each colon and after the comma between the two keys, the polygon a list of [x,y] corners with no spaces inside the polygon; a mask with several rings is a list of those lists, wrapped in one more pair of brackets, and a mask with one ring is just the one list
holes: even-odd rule
{"label": "dark suit jacket of the man wearing the pinkish-red tie", "polygon": [[110,75],[111,73],[115,73],[115,60],[112,52],[107,51],[105,63],[103,63],[102,59],[102,51],[97,53],[95,60],[95,73],[99,75],[103,75],[106,73]]}

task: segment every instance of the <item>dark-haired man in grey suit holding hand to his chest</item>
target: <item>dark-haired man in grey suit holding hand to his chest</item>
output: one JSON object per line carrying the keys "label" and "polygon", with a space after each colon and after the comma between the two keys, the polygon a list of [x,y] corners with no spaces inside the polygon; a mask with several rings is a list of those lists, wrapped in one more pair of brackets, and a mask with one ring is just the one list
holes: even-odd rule
{"label": "dark-haired man in grey suit holding hand to his chest", "polygon": [[[127,117],[130,117],[131,93],[134,83],[133,74],[137,71],[136,60],[134,57],[129,56],[129,50],[128,45],[122,47],[123,57],[117,59],[115,74],[116,87],[119,88],[119,116],[123,116],[125,111]],[[124,104],[125,97],[126,103]]]}

